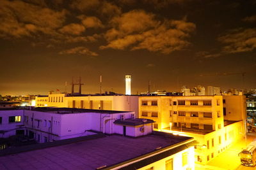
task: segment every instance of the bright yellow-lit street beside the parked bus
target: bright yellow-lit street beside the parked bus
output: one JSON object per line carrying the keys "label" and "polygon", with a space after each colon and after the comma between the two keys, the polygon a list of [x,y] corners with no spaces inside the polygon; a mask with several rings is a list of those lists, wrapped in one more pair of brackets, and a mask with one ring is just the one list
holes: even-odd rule
{"label": "bright yellow-lit street beside the parked bus", "polygon": [[212,159],[206,166],[200,166],[195,164],[196,170],[201,169],[209,169],[209,170],[223,170],[223,169],[230,169],[230,170],[240,170],[240,169],[256,169],[256,167],[246,167],[242,166],[240,163],[240,159],[238,153],[243,150],[245,146],[251,143],[253,140],[256,139],[255,133],[250,133],[247,135],[247,142],[245,139],[234,143],[234,145],[230,146],[225,150],[225,152],[220,153],[217,157]]}

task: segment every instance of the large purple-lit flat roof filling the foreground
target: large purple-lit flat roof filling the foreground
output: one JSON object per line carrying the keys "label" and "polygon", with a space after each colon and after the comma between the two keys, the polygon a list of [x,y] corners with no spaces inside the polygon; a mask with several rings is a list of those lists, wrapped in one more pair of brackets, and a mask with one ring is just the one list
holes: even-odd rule
{"label": "large purple-lit flat roof filling the foreground", "polygon": [[[109,169],[108,167],[120,165],[125,161],[137,160],[137,157],[148,153],[160,152],[162,148],[185,145],[192,141],[193,138],[166,133],[148,134],[139,138],[111,135],[105,138],[5,155],[0,159],[0,169],[97,169],[98,167]],[[179,151],[172,151],[172,154]],[[166,155],[161,155],[158,159],[163,159],[163,157]],[[156,159],[147,160],[144,164],[150,164],[150,161],[156,161]],[[143,166],[140,164],[134,167]]]}

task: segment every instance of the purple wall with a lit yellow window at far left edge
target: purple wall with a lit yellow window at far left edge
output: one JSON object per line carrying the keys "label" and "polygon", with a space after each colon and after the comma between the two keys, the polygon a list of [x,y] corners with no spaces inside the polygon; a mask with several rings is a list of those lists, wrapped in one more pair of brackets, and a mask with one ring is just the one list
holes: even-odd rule
{"label": "purple wall with a lit yellow window at far left edge", "polygon": [[[9,122],[9,117],[20,116],[20,122]],[[23,110],[0,110],[0,117],[2,122],[0,123],[0,131],[6,131],[0,133],[0,138],[8,138],[16,134],[16,130],[20,129],[20,125],[23,125]]]}

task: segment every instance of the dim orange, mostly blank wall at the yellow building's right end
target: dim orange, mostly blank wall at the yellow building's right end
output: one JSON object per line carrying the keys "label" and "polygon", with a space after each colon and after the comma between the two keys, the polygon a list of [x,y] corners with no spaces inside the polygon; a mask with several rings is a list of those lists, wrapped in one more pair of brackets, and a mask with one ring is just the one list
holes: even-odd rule
{"label": "dim orange, mostly blank wall at the yellow building's right end", "polygon": [[223,96],[223,108],[226,110],[225,120],[246,119],[246,98],[245,96]]}

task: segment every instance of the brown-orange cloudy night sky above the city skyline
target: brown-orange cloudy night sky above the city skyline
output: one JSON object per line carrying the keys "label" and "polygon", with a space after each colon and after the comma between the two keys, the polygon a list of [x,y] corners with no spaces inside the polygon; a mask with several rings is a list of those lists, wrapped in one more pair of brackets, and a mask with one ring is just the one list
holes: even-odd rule
{"label": "brown-orange cloudy night sky above the city skyline", "polygon": [[[256,1],[0,1],[0,94],[256,88]],[[243,73],[244,83],[241,74]],[[218,74],[218,75],[214,75]],[[226,74],[226,75],[223,75]]]}

